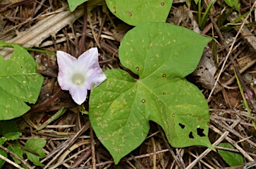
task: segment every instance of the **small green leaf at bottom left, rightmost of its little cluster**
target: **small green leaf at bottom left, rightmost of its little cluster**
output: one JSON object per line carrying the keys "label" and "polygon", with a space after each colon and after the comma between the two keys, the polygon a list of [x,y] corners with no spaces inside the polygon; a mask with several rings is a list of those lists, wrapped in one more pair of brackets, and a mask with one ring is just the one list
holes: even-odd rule
{"label": "small green leaf at bottom left, rightmost of its little cluster", "polygon": [[27,140],[25,144],[25,147],[39,154],[39,156],[36,156],[31,152],[25,151],[25,153],[27,154],[27,158],[29,158],[29,160],[31,160],[31,162],[33,162],[33,164],[35,164],[36,166],[44,166],[41,162],[39,162],[39,159],[44,158],[46,156],[43,150],[41,150],[45,146],[45,144],[46,141],[43,140],[42,138],[31,138]]}

